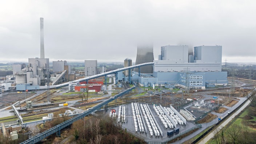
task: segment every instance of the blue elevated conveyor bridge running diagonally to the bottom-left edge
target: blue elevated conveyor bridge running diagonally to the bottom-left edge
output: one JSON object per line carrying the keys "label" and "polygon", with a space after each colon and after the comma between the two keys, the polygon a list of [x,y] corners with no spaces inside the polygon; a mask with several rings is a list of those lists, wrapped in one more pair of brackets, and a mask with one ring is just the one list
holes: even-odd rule
{"label": "blue elevated conveyor bridge running diagonally to the bottom-left edge", "polygon": [[72,117],[71,119],[69,119],[67,121],[64,121],[61,124],[58,124],[55,127],[52,127],[50,129],[48,129],[47,131],[44,131],[44,132],[42,132],[42,133],[40,133],[40,134],[38,134],[38,135],[36,135],[36,136],[26,140],[26,141],[23,141],[20,144],[35,144],[38,141],[43,140],[43,139],[45,139],[45,137],[47,137],[49,135],[52,135],[53,133],[56,133],[56,132],[57,132],[57,135],[60,136],[60,130],[61,129],[67,127],[68,125],[71,125],[72,123],[74,123],[77,120],[80,120],[80,119],[84,118],[85,116],[91,114],[92,112],[99,110],[103,105],[108,104],[109,102],[117,99],[118,97],[126,95],[127,93],[131,92],[135,88],[136,88],[136,85],[131,87],[131,88],[129,88],[129,89],[127,89],[127,90],[125,90],[125,91],[123,91],[123,92],[121,92],[121,93],[118,93],[115,96],[110,97],[109,99],[107,99],[107,100],[105,100],[105,101],[95,105],[94,107],[89,108],[87,111],[85,111],[85,112],[83,112],[83,113],[81,113],[79,115],[76,115],[75,117]]}

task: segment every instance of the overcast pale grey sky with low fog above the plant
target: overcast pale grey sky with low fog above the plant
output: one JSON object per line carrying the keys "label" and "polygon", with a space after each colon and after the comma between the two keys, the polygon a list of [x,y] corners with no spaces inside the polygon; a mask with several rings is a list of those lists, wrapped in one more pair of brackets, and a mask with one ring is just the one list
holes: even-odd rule
{"label": "overcast pale grey sky with low fog above the plant", "polygon": [[256,62],[255,0],[1,0],[0,61],[136,60],[137,43],[222,45],[223,62]]}

